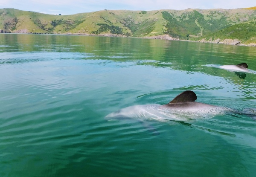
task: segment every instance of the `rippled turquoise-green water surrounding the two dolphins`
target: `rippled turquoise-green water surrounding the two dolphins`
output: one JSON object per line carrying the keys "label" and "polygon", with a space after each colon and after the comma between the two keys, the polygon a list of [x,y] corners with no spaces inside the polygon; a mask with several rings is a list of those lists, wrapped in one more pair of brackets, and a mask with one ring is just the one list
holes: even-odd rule
{"label": "rippled turquoise-green water surrounding the two dolphins", "polygon": [[[0,176],[254,177],[256,75],[211,66],[255,59],[249,46],[0,34]],[[185,90],[235,111],[105,118]]]}

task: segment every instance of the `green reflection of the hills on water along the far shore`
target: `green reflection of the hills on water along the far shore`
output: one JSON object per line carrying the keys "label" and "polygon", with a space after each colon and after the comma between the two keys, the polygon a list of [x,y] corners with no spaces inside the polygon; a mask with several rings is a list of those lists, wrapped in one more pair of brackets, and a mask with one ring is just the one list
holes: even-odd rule
{"label": "green reflection of the hills on water along the far shore", "polygon": [[[163,41],[138,38],[91,37],[72,35],[0,35],[0,52],[13,49],[17,52],[42,52],[43,55],[60,55],[60,59],[102,59],[115,62],[148,65],[189,74],[207,74],[223,77],[227,82],[246,89],[256,83],[251,73],[232,73],[206,64],[237,64],[245,62],[248,69],[256,70],[254,47],[204,44],[185,41]],[[11,46],[10,45],[11,43]],[[62,55],[72,52],[71,56]],[[34,55],[33,54],[33,55]],[[51,56],[48,57],[49,60]],[[33,61],[33,58],[30,58]],[[245,77],[246,76],[246,77]],[[179,75],[169,75],[179,77]],[[182,78],[180,78],[182,81]],[[211,81],[209,81],[211,82]]]}

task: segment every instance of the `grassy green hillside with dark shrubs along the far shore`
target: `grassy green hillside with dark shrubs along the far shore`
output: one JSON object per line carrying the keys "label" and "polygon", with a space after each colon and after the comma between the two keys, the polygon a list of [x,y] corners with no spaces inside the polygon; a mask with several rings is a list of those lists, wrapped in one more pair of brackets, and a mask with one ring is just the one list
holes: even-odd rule
{"label": "grassy green hillside with dark shrubs along the far shore", "polygon": [[47,15],[0,9],[0,32],[114,35],[256,44],[256,9],[103,10]]}

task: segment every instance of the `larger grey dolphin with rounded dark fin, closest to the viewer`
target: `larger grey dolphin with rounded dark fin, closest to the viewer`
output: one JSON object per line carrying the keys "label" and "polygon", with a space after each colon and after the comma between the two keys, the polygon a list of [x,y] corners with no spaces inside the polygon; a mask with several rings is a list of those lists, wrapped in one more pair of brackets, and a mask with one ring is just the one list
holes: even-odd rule
{"label": "larger grey dolphin with rounded dark fin, closest to the viewer", "polygon": [[224,114],[229,108],[195,102],[196,94],[186,90],[168,104],[134,105],[108,114],[106,119],[136,118],[138,120],[156,119],[159,121],[186,121],[196,118],[211,118]]}

